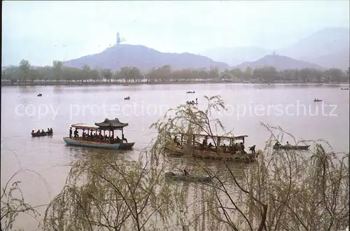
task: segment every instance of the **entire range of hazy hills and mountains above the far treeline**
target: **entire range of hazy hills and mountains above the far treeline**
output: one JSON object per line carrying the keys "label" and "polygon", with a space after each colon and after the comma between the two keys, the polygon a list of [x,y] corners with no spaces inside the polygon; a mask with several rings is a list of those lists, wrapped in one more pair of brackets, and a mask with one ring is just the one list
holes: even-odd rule
{"label": "entire range of hazy hills and mountains above the far treeline", "polygon": [[[278,70],[302,68],[340,68],[349,66],[349,28],[331,27],[317,31],[288,48],[273,50],[257,47],[212,48],[202,55],[190,53],[166,53],[144,45],[120,44],[94,54],[63,62],[65,66],[118,71],[123,66],[135,66],[149,71],[160,66],[171,65],[172,69],[231,69],[232,66],[253,69],[275,66]],[[206,56],[203,56],[206,55]],[[215,61],[214,61],[215,60]],[[30,62],[30,60],[29,60]],[[2,67],[4,69],[4,67]]]}

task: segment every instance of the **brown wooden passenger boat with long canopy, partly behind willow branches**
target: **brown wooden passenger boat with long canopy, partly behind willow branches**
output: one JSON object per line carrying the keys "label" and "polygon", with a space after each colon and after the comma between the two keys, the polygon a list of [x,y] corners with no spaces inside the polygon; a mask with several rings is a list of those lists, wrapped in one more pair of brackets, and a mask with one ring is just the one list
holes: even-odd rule
{"label": "brown wooden passenger boat with long canopy, partly behind willow branches", "polygon": [[[239,146],[244,145],[244,140],[247,135],[241,136],[208,136],[207,134],[186,134],[179,133],[175,136],[181,136],[181,141],[172,141],[165,146],[165,151],[169,155],[177,157],[193,157],[198,159],[209,160],[229,160],[237,162],[251,162],[262,154],[262,151],[255,153],[246,153],[241,151]],[[196,139],[203,139],[203,143],[196,141]],[[208,140],[215,140],[216,146],[209,147]],[[229,144],[225,144],[225,143]],[[177,144],[176,144],[177,143]],[[209,144],[210,145],[210,144]],[[247,148],[248,149],[248,148]]]}

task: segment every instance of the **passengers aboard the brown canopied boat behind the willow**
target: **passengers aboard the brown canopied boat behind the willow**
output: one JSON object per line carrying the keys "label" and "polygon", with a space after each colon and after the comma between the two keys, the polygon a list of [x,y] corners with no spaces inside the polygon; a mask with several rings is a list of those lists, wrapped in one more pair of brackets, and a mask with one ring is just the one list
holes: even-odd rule
{"label": "passengers aboard the brown canopied boat behind the willow", "polygon": [[[181,146],[177,137],[174,137],[174,143],[177,146]],[[211,144],[211,142],[209,142],[209,144],[208,144],[206,139],[203,139],[202,144],[200,144],[197,148],[200,151],[216,151],[215,146],[213,144]],[[231,146],[223,144],[219,148],[219,150],[222,151],[223,153],[231,153],[231,154],[235,154],[235,153],[237,153],[237,151],[241,151],[242,153],[246,153],[246,151],[244,151],[244,149],[245,149],[245,147],[244,147],[243,142],[241,142],[240,144],[235,143]],[[251,151],[251,153],[255,154],[255,144],[249,148],[249,151]]]}

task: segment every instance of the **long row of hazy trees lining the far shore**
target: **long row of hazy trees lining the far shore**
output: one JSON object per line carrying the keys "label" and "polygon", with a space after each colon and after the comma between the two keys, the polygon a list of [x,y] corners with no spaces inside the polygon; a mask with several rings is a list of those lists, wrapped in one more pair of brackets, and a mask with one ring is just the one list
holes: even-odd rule
{"label": "long row of hazy trees lining the far shore", "polygon": [[83,65],[81,69],[64,66],[60,61],[54,61],[52,66],[32,67],[28,60],[22,59],[18,66],[8,66],[1,72],[1,82],[25,84],[31,83],[138,83],[138,82],[176,82],[176,81],[205,81],[220,79],[233,80],[235,82],[299,82],[299,83],[328,83],[349,82],[349,69],[288,69],[277,71],[274,66],[264,66],[258,69],[248,67],[241,69],[226,69],[219,71],[217,67],[211,69],[182,69],[172,70],[172,66],[166,65],[155,68],[147,73],[137,67],[124,66],[120,71],[111,69],[91,69]]}

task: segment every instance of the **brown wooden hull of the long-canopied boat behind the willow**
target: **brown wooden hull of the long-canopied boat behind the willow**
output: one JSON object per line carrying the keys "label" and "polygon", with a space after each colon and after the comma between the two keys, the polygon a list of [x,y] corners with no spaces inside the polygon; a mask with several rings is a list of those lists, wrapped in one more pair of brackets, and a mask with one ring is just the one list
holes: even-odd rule
{"label": "brown wooden hull of the long-canopied boat behind the willow", "polygon": [[202,160],[227,160],[234,162],[252,162],[258,155],[262,154],[262,151],[257,151],[253,153],[240,153],[239,151],[236,154],[231,153],[216,153],[212,151],[199,151],[190,148],[181,148],[175,146],[165,146],[165,150],[169,155],[176,157],[193,157],[196,159]]}

